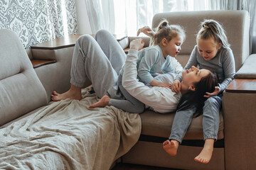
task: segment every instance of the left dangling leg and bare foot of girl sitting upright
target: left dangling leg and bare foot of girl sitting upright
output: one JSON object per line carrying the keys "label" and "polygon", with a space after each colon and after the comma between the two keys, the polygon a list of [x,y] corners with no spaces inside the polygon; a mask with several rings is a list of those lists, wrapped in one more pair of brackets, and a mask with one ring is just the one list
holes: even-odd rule
{"label": "left dangling leg and bare foot of girl sitting upright", "polygon": [[186,111],[176,111],[174,122],[171,127],[171,135],[169,137],[171,142],[166,140],[163,143],[164,150],[171,156],[176,155],[178,145],[183,140],[195,112],[196,108],[191,108],[190,110]]}

